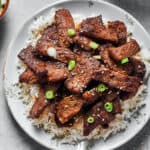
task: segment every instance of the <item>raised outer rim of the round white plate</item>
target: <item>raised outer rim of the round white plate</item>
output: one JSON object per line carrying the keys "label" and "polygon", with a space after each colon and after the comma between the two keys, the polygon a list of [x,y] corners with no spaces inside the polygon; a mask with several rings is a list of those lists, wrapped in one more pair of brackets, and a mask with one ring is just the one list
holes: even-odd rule
{"label": "raised outer rim of the round white plate", "polygon": [[[16,121],[16,123],[18,124],[18,126],[23,130],[23,132],[28,135],[31,139],[33,139],[36,143],[42,145],[43,147],[46,147],[46,148],[51,148],[51,149],[54,149],[54,147],[48,147],[47,145],[45,145],[44,143],[40,142],[40,140],[36,139],[32,133],[26,131],[22,125],[18,122],[16,116],[14,115],[12,109],[11,109],[11,106],[10,106],[10,102],[8,100],[8,97],[7,97],[7,90],[6,90],[6,79],[5,79],[5,74],[6,74],[6,66],[7,66],[7,62],[8,62],[8,56],[10,55],[10,52],[11,52],[11,47],[13,46],[13,43],[15,42],[16,38],[18,37],[19,33],[21,32],[22,28],[24,26],[26,26],[26,24],[28,24],[28,22],[30,22],[34,16],[38,15],[40,12],[46,10],[47,8],[49,7],[55,7],[55,5],[57,4],[64,4],[64,3],[67,3],[67,2],[73,2],[72,0],[58,0],[58,1],[55,1],[55,2],[51,2],[50,4],[47,4],[45,7],[42,7],[41,9],[38,9],[36,10],[33,15],[31,15],[30,17],[27,17],[27,19],[23,22],[22,25],[20,25],[19,29],[17,30],[16,34],[14,35],[14,37],[12,37],[11,39],[11,42],[7,48],[7,51],[6,51],[6,54],[5,54],[5,59],[4,59],[4,64],[3,64],[3,92],[4,92],[4,98],[5,100],[7,101],[7,105],[8,105],[8,108],[9,108],[9,111],[11,113],[11,115],[13,116],[14,120]],[[108,2],[108,1],[101,1],[101,0],[76,0],[74,2],[98,2],[98,3],[101,3],[101,4],[105,4],[105,5],[108,5],[114,9],[118,9],[120,12],[124,13],[124,14],[127,14],[132,20],[133,22],[135,22],[141,29],[142,31],[144,32],[145,36],[149,39],[150,41],[150,35],[149,33],[146,31],[146,29],[143,27],[143,25],[133,16],[131,15],[128,11],[124,10],[123,8],[111,3],[111,2]],[[139,134],[139,132],[146,126],[146,124],[148,123],[148,121],[150,120],[150,115],[148,116],[147,120],[144,122],[144,124],[131,136],[129,137],[126,141],[122,141],[122,142],[118,142],[119,144],[115,144],[111,149],[116,149],[120,146],[123,146],[124,144],[126,144],[127,142],[129,142],[131,139],[133,139],[137,134]]]}

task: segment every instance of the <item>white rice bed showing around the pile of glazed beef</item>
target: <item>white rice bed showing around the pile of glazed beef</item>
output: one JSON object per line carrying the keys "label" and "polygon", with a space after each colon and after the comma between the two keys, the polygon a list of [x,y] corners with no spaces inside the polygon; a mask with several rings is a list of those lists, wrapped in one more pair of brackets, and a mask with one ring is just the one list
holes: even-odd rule
{"label": "white rice bed showing around the pile of glazed beef", "polygon": [[[37,40],[41,37],[40,32],[43,31],[48,25],[50,25],[54,21],[55,9],[52,9],[50,13],[46,16],[40,16],[36,21],[33,22],[30,31],[29,31],[29,40],[27,44],[31,44],[35,46]],[[73,16],[76,23],[81,22],[84,18],[83,16]],[[40,32],[39,32],[40,31]],[[145,61],[147,66],[147,75],[150,72],[148,70],[149,63]],[[22,84],[22,88],[18,90],[23,95],[23,103],[25,103],[27,108],[27,114],[33,105],[33,99],[38,94],[38,86],[37,85],[26,85]],[[133,98],[122,101],[122,114],[116,115],[116,119],[112,121],[109,125],[109,128],[103,129],[101,126],[95,128],[89,136],[83,136],[83,120],[79,118],[79,121],[75,123],[73,127],[63,127],[58,128],[54,121],[53,114],[49,113],[48,115],[40,118],[40,119],[31,119],[32,123],[37,127],[42,127],[45,131],[47,131],[51,137],[61,139],[62,143],[70,143],[74,141],[84,140],[84,139],[106,139],[111,134],[116,134],[118,131],[124,130],[127,127],[128,119],[131,119],[131,116],[139,110],[140,107],[144,105],[143,94],[146,90],[146,86],[142,85],[136,96]]]}

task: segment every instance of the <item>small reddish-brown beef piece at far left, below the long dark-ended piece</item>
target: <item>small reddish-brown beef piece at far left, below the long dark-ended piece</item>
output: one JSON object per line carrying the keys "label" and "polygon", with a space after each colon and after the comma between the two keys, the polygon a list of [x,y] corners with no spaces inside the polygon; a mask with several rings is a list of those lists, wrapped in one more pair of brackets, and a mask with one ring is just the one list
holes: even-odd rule
{"label": "small reddish-brown beef piece at far left, below the long dark-ended piece", "polygon": [[30,70],[26,69],[20,76],[19,76],[19,82],[25,82],[29,84],[34,84],[38,82],[38,78],[35,75],[35,73]]}

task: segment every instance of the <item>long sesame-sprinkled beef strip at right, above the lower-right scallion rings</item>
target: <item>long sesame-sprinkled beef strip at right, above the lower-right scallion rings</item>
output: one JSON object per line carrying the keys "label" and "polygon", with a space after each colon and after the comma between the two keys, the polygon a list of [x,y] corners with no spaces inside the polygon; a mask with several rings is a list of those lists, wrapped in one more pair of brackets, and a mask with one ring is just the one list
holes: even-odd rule
{"label": "long sesame-sprinkled beef strip at right, above the lower-right scallion rings", "polygon": [[133,93],[136,93],[140,86],[140,81],[137,77],[131,77],[102,66],[95,72],[94,79],[104,82],[110,87]]}

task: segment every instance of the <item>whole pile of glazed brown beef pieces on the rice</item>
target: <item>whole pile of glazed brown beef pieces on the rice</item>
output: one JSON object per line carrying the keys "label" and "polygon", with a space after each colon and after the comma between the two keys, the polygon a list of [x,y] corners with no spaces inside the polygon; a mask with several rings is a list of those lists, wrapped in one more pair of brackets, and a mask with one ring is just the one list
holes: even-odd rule
{"label": "whole pile of glazed brown beef pieces on the rice", "polygon": [[[142,84],[145,65],[134,57],[140,46],[135,39],[127,42],[127,28],[118,20],[104,25],[102,16],[90,17],[75,29],[69,10],[58,9],[54,18],[36,46],[29,45],[18,54],[27,66],[19,82],[40,86],[29,117],[39,118],[46,109],[63,127],[80,115],[84,118],[83,135],[87,136],[99,125],[109,127],[115,115],[122,113],[121,100],[133,97]],[[69,36],[68,29],[74,30],[75,35]],[[96,42],[98,47],[93,49],[90,42]],[[50,56],[49,50],[54,50],[56,56]],[[121,64],[124,58],[128,61]],[[76,62],[73,70],[67,68],[70,60]],[[99,84],[105,84],[107,89],[98,91]],[[50,101],[45,97],[47,89],[56,93]],[[112,103],[111,112],[106,111],[106,102]],[[94,122],[87,121],[89,116]]]}

